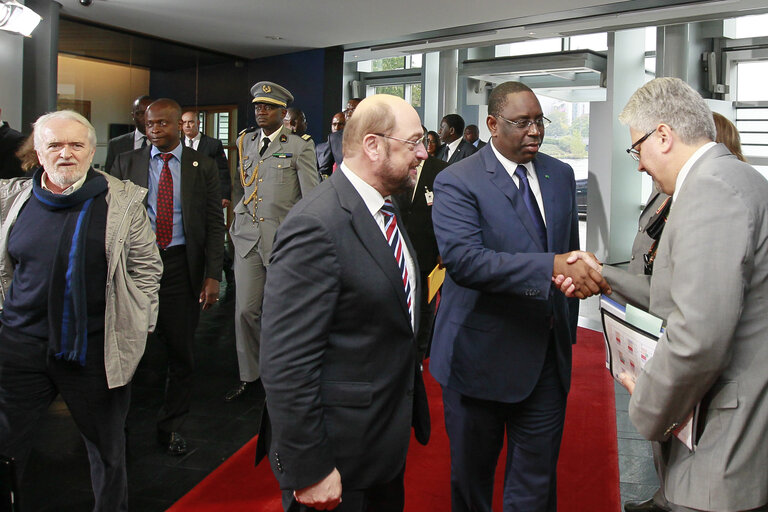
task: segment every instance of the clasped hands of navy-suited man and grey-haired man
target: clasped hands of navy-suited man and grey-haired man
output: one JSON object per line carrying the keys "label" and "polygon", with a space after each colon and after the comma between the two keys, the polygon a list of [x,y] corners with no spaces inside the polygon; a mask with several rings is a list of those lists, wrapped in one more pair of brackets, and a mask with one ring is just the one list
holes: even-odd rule
{"label": "clasped hands of navy-suited man and grey-haired man", "polygon": [[597,293],[611,293],[611,287],[602,275],[602,264],[594,254],[571,251],[555,254],[552,282],[566,297],[586,299]]}

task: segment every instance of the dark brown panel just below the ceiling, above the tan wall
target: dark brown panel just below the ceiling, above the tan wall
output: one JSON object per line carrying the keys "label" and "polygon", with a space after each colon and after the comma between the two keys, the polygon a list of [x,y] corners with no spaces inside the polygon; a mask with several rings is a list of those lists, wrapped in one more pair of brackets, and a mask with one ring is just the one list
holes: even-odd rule
{"label": "dark brown panel just below the ceiling, above the tan wall", "polygon": [[68,18],[59,23],[59,52],[169,71],[238,60],[223,53]]}

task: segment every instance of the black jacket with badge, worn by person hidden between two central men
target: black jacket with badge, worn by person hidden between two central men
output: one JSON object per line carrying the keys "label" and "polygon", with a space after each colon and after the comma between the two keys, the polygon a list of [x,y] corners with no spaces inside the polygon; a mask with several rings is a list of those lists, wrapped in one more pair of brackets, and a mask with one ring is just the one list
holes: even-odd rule
{"label": "black jacket with badge, worn by person hidden between two central men", "polygon": [[405,230],[416,249],[416,257],[422,273],[432,271],[437,264],[438,255],[435,230],[432,227],[432,204],[427,204],[426,194],[434,195],[435,177],[447,166],[446,162],[429,157],[421,168],[419,181],[415,185],[415,194],[409,190],[394,196]]}

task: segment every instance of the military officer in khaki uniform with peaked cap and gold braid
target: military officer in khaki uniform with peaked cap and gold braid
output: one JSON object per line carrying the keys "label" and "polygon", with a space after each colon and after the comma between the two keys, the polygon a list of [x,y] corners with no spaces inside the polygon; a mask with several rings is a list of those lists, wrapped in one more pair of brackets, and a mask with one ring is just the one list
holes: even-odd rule
{"label": "military officer in khaki uniform with peaked cap and gold braid", "polygon": [[293,95],[272,82],[251,88],[258,128],[240,133],[238,173],[243,197],[229,230],[235,248],[235,342],[240,384],[224,400],[236,400],[259,380],[261,303],[272,241],[288,210],[320,182],[309,135],[283,127]]}

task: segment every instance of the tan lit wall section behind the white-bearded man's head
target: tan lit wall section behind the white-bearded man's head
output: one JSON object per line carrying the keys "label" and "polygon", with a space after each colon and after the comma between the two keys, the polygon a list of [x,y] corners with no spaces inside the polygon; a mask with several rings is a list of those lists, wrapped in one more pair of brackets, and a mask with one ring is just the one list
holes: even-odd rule
{"label": "tan lit wall section behind the white-bearded man's head", "polygon": [[94,165],[107,158],[110,123],[132,124],[131,103],[149,93],[149,70],[59,55],[58,99],[91,102],[91,124],[96,129]]}

